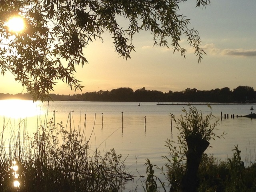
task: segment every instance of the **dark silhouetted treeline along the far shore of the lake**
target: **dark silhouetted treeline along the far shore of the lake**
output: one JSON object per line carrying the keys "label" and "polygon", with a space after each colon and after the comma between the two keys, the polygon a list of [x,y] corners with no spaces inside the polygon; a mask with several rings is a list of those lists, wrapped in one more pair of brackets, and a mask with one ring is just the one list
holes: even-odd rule
{"label": "dark silhouetted treeline along the far shore of the lake", "polygon": [[[186,88],[184,91],[161,92],[146,90],[144,87],[133,91],[131,88],[117,88],[111,91],[94,91],[74,95],[49,94],[54,101],[134,101],[134,102],[216,102],[216,103],[255,103],[256,92],[249,86],[238,86],[230,90],[225,87],[213,90]],[[3,99],[33,100],[29,93],[0,94]]]}

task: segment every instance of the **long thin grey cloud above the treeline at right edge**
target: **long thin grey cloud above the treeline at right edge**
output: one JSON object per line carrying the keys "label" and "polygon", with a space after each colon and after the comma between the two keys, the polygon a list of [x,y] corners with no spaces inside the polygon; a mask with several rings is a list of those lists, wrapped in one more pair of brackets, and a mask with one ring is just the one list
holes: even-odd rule
{"label": "long thin grey cloud above the treeline at right edge", "polygon": [[226,55],[226,56],[240,56],[240,57],[256,57],[256,49],[220,49],[216,48],[215,45],[206,44],[202,46],[202,49],[206,51],[207,54],[212,55]]}

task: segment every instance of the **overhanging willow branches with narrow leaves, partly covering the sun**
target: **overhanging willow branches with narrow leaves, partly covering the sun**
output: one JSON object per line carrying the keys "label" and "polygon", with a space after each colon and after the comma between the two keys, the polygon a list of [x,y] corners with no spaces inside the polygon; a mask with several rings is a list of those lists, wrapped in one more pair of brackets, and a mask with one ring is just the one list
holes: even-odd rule
{"label": "overhanging willow branches with narrow leaves, partly covering the sun", "polygon": [[[180,46],[185,35],[194,47],[198,61],[205,54],[200,37],[189,29],[189,19],[178,14],[179,4],[186,0],[2,0],[0,2],[0,70],[10,71],[34,96],[44,100],[57,80],[66,82],[72,90],[83,86],[74,73],[84,65],[83,49],[110,32],[115,50],[130,58],[134,50],[132,38],[141,30],[151,32],[154,45],[167,46],[185,57]],[[197,0],[196,6],[206,6],[209,0]],[[25,21],[22,32],[11,32],[6,26],[13,16]],[[124,17],[128,28],[116,20]]]}

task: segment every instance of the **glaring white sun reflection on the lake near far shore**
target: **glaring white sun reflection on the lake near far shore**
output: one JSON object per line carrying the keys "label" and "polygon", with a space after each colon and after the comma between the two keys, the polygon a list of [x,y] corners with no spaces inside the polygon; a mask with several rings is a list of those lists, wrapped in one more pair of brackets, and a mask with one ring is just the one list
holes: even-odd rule
{"label": "glaring white sun reflection on the lake near far shore", "polygon": [[0,100],[0,116],[26,118],[42,114],[38,102],[31,100]]}

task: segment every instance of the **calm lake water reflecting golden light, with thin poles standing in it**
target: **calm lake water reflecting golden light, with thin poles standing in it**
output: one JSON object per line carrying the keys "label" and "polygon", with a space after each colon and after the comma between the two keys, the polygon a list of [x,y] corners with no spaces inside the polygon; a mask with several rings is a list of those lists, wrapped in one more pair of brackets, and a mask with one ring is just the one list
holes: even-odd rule
{"label": "calm lake water reflecting golden light, with thin poles standing in it", "polygon": [[[176,141],[177,130],[174,123],[171,129],[170,113],[179,118],[186,105],[156,105],[155,102],[143,102],[138,106],[137,102],[50,102],[42,104],[32,101],[0,101],[0,127],[16,128],[18,122],[25,124],[28,132],[35,132],[37,120],[42,121],[53,118],[54,121],[63,122],[70,127],[69,114],[72,114],[72,127],[79,125],[84,127],[86,136],[89,137],[91,148],[104,152],[114,148],[118,154],[126,158],[126,166],[132,174],[146,175],[145,159],[149,158],[152,164],[164,166],[166,160],[161,156],[168,154],[168,148],[164,146],[165,141],[173,139]],[[199,110],[208,114],[210,109],[206,105],[195,105]],[[206,152],[226,160],[232,157],[232,149],[238,145],[242,151],[242,159],[255,159],[256,149],[256,119],[236,118],[236,115],[249,114],[250,105],[212,105],[214,116],[219,121],[216,133],[226,132],[225,139],[211,140]],[[254,106],[256,109],[256,106]],[[48,111],[48,113],[47,113]],[[123,113],[122,113],[123,112]],[[224,114],[229,114],[224,119]],[[231,118],[231,114],[235,118]],[[95,121],[95,126],[94,126]],[[145,124],[146,122],[146,124]],[[8,130],[8,129],[6,129]],[[138,182],[140,185],[140,182]],[[128,184],[129,190],[134,189],[135,184]],[[138,190],[140,191],[140,190]]]}

